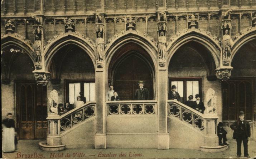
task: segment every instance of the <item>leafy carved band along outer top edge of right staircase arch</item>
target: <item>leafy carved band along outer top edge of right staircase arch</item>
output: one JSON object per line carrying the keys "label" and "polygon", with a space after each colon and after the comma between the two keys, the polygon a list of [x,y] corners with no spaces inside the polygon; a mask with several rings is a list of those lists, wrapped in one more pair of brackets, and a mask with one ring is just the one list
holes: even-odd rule
{"label": "leafy carved band along outer top edge of right staircase arch", "polygon": [[182,37],[185,34],[188,34],[189,32],[198,32],[200,34],[203,34],[205,36],[208,36],[210,39],[214,40],[216,42],[216,44],[219,45],[219,40],[218,37],[216,35],[213,35],[210,31],[208,30],[203,30],[203,29],[184,29],[182,32],[178,32],[176,35],[170,37],[170,42],[168,43],[168,45],[171,45],[174,41],[176,41],[179,37]]}

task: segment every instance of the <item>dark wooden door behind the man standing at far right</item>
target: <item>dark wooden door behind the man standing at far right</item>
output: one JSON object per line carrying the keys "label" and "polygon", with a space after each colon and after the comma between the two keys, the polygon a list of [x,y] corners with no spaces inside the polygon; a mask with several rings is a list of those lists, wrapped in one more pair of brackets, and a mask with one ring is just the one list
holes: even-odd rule
{"label": "dark wooden door behind the man standing at far right", "polygon": [[253,119],[253,80],[239,79],[222,83],[222,118],[237,120],[239,111],[245,112],[246,120]]}

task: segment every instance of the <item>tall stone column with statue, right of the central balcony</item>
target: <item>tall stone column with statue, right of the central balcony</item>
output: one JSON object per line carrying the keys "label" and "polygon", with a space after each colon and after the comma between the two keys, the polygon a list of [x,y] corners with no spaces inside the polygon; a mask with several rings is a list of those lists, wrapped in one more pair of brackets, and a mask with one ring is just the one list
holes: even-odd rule
{"label": "tall stone column with statue, right of the central balcony", "polygon": [[168,71],[166,69],[166,12],[158,13],[158,149],[169,149],[169,133],[167,132],[166,99],[168,87]]}

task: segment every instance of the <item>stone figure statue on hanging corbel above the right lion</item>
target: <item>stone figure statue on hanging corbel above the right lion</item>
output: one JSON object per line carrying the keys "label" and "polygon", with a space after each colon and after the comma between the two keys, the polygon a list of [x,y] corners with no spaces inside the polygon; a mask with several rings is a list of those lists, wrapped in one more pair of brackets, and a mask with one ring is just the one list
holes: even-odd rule
{"label": "stone figure statue on hanging corbel above the right lion", "polygon": [[222,59],[223,60],[226,60],[228,58],[230,58],[231,56],[231,51],[230,51],[230,48],[231,46],[233,45],[233,41],[230,37],[230,35],[228,34],[228,30],[225,30],[225,35],[223,35],[223,38],[222,38]]}

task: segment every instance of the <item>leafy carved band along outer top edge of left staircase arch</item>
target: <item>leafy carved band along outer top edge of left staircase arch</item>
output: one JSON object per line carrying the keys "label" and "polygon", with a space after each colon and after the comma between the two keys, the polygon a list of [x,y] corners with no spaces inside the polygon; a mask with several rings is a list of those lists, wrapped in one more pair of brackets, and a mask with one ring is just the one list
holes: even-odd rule
{"label": "leafy carved band along outer top edge of left staircase arch", "polygon": [[84,34],[80,34],[79,32],[62,32],[61,34],[55,35],[53,39],[48,40],[47,45],[44,46],[44,50],[46,50],[52,43],[68,35],[73,35],[75,37],[83,39],[84,41],[86,41],[86,43],[88,43],[88,45],[90,45],[92,48],[95,48],[95,43]]}

